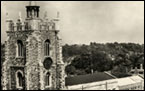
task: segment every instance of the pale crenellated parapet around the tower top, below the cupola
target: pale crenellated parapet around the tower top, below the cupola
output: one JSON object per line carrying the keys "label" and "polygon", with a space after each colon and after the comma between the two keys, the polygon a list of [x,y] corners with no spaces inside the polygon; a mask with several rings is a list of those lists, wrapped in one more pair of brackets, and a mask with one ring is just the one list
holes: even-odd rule
{"label": "pale crenellated parapet around the tower top, below the cupola", "polygon": [[26,20],[24,22],[17,20],[7,20],[7,31],[29,31],[29,30],[58,30],[57,22],[53,19],[50,21],[45,20]]}

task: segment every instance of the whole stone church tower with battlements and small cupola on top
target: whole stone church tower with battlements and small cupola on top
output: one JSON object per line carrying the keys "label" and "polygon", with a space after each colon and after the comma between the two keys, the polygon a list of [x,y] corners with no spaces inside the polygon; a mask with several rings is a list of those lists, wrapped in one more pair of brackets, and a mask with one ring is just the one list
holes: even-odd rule
{"label": "whole stone church tower with battlements and small cupola on top", "polygon": [[64,89],[59,17],[41,19],[35,1],[26,6],[17,22],[7,18],[5,62],[2,69],[3,90]]}

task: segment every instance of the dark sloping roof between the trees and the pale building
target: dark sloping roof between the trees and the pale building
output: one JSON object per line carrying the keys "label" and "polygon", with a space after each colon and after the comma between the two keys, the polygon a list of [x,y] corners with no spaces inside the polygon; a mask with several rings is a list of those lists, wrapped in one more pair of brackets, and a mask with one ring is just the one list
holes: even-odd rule
{"label": "dark sloping roof between the trees and the pale building", "polygon": [[115,79],[115,77],[109,75],[106,72],[96,72],[93,74],[80,75],[80,76],[74,76],[74,77],[66,77],[65,78],[65,85],[71,86],[71,85],[77,85],[77,84],[83,84],[83,83],[104,81],[104,80],[109,80],[109,79]]}

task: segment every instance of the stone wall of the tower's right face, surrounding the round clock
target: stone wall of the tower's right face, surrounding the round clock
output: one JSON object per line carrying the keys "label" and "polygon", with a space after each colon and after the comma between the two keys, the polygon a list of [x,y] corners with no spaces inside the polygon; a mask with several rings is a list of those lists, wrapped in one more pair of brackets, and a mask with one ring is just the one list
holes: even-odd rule
{"label": "stone wall of the tower's right face, surrounding the round clock", "polygon": [[[36,31],[36,36],[39,39],[39,51],[38,51],[38,61],[40,65],[40,88],[46,89],[45,86],[45,76],[46,73],[49,72],[51,74],[51,87],[49,89],[56,88],[56,43],[55,43],[55,32],[54,31]],[[45,69],[43,66],[44,60],[47,58],[44,56],[44,42],[49,39],[50,40],[50,57],[53,61],[53,64],[50,69]]]}

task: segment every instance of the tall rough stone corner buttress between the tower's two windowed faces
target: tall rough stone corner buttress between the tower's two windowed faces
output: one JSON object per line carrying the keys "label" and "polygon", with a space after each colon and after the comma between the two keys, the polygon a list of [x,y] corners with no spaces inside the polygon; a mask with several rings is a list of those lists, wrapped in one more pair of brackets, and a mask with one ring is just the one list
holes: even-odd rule
{"label": "tall rough stone corner buttress between the tower's two windowed faces", "polygon": [[26,81],[28,90],[39,89],[38,41],[29,36],[26,51]]}

